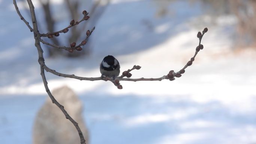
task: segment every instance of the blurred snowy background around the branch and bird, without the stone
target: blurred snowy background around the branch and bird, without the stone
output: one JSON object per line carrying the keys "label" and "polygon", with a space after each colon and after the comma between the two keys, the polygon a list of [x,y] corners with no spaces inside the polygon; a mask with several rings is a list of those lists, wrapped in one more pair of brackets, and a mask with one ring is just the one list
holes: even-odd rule
{"label": "blurred snowy background around the branch and bird, without the stone", "polygon": [[[89,144],[256,144],[255,0],[32,1],[41,33],[89,12],[88,21],[45,39],[68,46],[95,26],[81,52],[42,44],[48,67],[83,77],[100,76],[106,55],[118,59],[121,71],[140,65],[132,78],[178,71],[193,56],[198,31],[208,28],[204,49],[172,82],[122,81],[119,90],[46,73],[51,90],[68,86],[79,96]],[[17,4],[31,23],[26,1]],[[11,0],[0,0],[0,18],[0,141],[33,144],[34,121],[48,98],[37,49]]]}

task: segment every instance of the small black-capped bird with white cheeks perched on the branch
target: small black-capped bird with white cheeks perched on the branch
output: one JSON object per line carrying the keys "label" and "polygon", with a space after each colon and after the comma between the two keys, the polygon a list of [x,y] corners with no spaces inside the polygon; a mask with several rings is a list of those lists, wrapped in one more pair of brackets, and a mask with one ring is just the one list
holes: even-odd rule
{"label": "small black-capped bird with white cheeks perched on the branch", "polygon": [[106,76],[115,80],[120,73],[120,65],[118,60],[112,55],[106,56],[100,63],[100,73],[101,77]]}

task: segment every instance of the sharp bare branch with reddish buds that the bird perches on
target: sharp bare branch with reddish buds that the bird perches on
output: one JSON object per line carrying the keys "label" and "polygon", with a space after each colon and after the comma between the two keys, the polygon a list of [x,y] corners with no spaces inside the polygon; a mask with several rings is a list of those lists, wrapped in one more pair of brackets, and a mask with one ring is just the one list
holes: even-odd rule
{"label": "sharp bare branch with reddish buds that the bird perches on", "polygon": [[[31,28],[30,30],[34,31],[35,46],[36,46],[36,48],[37,48],[38,55],[39,55],[38,62],[39,62],[39,64],[40,64],[41,76],[42,76],[42,79],[43,79],[43,84],[44,84],[44,86],[45,86],[45,90],[46,90],[46,92],[48,93],[49,97],[51,98],[52,102],[53,102],[54,104],[56,104],[56,105],[61,109],[61,111],[63,111],[65,117],[66,117],[68,120],[70,120],[70,122],[72,122],[73,125],[76,127],[77,132],[78,132],[79,137],[80,137],[80,142],[81,142],[81,144],[85,144],[85,139],[84,139],[84,137],[83,137],[82,131],[80,130],[80,128],[79,128],[79,126],[78,126],[78,123],[77,123],[76,121],[74,121],[74,120],[68,115],[67,111],[65,111],[63,105],[61,105],[60,103],[58,103],[58,101],[56,101],[56,99],[54,98],[54,96],[51,94],[51,91],[50,91],[49,88],[48,88],[48,82],[47,82],[46,77],[45,77],[45,71],[48,71],[48,72],[50,72],[50,73],[52,73],[52,74],[55,74],[55,75],[57,75],[57,76],[61,76],[61,77],[70,77],[70,78],[78,79],[78,80],[90,80],[90,81],[104,80],[104,81],[111,81],[112,83],[115,84],[115,86],[118,87],[118,89],[122,89],[122,85],[120,85],[120,83],[119,83],[119,81],[122,81],[122,80],[124,80],[124,81],[133,81],[133,82],[137,82],[137,81],[161,81],[161,80],[164,80],[164,79],[175,80],[174,77],[181,77],[181,74],[185,73],[185,69],[186,69],[188,66],[192,65],[192,62],[195,60],[195,57],[196,57],[197,53],[199,52],[199,50],[200,50],[200,49],[203,49],[203,46],[201,45],[202,36],[204,35],[204,33],[206,33],[206,32],[208,31],[208,29],[205,28],[204,31],[203,31],[203,34],[201,34],[201,32],[198,32],[199,45],[198,45],[198,47],[196,47],[196,52],[195,52],[194,56],[193,56],[193,57],[191,58],[191,60],[188,61],[188,63],[187,63],[180,71],[178,71],[177,73],[175,73],[173,70],[171,70],[171,71],[167,74],[167,76],[164,75],[164,76],[159,77],[159,78],[144,78],[144,77],[141,77],[141,78],[138,78],[138,79],[123,78],[123,77],[125,77],[125,76],[126,76],[126,77],[130,77],[130,76],[131,76],[131,74],[129,73],[130,71],[132,71],[132,70],[134,70],[134,69],[139,70],[139,69],[141,68],[141,67],[138,66],[138,65],[134,65],[131,70],[124,71],[125,74],[128,73],[128,75],[124,75],[124,73],[123,73],[120,77],[116,77],[115,80],[112,80],[112,79],[109,78],[109,77],[103,77],[103,78],[102,78],[102,77],[79,77],[79,76],[75,76],[74,74],[71,74],[71,75],[70,75],[70,74],[59,73],[59,72],[57,72],[57,71],[55,71],[55,70],[53,70],[53,69],[51,69],[51,68],[49,68],[49,67],[47,67],[47,66],[45,65],[45,60],[44,60],[44,58],[43,58],[43,50],[42,50],[42,48],[41,48],[40,42],[42,42],[42,43],[44,43],[44,44],[46,44],[46,45],[53,46],[53,47],[57,47],[57,46],[56,46],[56,45],[52,45],[52,44],[50,44],[50,43],[44,42],[44,41],[41,39],[41,37],[48,36],[49,34],[61,33],[61,32],[63,32],[64,29],[63,29],[62,31],[57,31],[57,32],[54,32],[54,33],[40,34],[40,33],[39,33],[39,30],[38,30],[38,27],[37,27],[37,21],[36,21],[36,15],[35,15],[35,12],[34,12],[33,3],[32,3],[31,0],[27,0],[27,2],[28,2],[28,5],[29,5],[29,7],[30,7],[30,13],[31,13],[31,18],[32,18],[32,22],[33,22],[33,29],[28,25],[28,22],[25,21],[25,19],[22,19],[22,20],[25,22],[25,24],[28,25],[29,28]],[[15,5],[15,8],[16,8],[16,10],[17,10],[18,15],[19,15],[21,18],[23,18],[23,16],[21,15],[21,13],[19,13],[18,7],[17,7],[17,5],[16,5],[16,0],[13,0],[13,4]],[[84,19],[84,18],[83,18],[83,19]],[[79,24],[80,22],[82,22],[83,19],[82,19],[81,21],[77,22],[76,24]],[[75,25],[76,25],[76,24],[75,24]],[[70,26],[68,26],[67,28],[70,28],[70,27],[72,27],[72,26],[73,26],[73,25],[70,25]],[[94,28],[95,28],[95,27],[94,27]],[[86,36],[86,39],[85,39],[85,40],[88,39],[88,37],[91,35],[91,33],[92,33],[92,31],[94,30],[94,28],[92,28],[91,31],[88,31],[88,32],[90,32],[90,33],[86,33],[87,36]],[[72,49],[78,48],[78,47],[81,46],[81,45],[82,45],[82,43],[81,43],[80,45],[78,45],[78,46],[72,47]],[[66,49],[66,48],[68,48],[68,47],[60,47],[60,46],[59,46],[58,48]],[[129,74],[130,74],[130,75],[129,75]]]}

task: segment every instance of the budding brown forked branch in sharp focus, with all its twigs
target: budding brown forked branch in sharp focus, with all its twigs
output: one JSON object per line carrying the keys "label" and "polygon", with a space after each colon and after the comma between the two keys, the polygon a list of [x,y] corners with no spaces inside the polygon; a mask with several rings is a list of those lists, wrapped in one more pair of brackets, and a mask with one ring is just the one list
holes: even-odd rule
{"label": "budding brown forked branch in sharp focus, with all its twigs", "polygon": [[[141,78],[138,78],[138,79],[131,79],[130,77],[132,76],[132,74],[130,72],[132,70],[135,70],[135,69],[136,70],[140,70],[140,68],[141,68],[139,65],[134,65],[131,69],[129,69],[127,71],[124,71],[121,76],[116,77],[115,80],[113,80],[113,79],[111,79],[109,77],[80,77],[80,76],[75,76],[74,74],[63,74],[63,73],[57,72],[57,71],[47,67],[46,64],[45,64],[44,57],[43,57],[43,50],[41,48],[40,42],[42,42],[43,44],[52,46],[54,48],[68,50],[68,52],[73,52],[73,50],[77,50],[77,51],[82,50],[81,46],[86,44],[86,40],[89,38],[89,36],[91,36],[91,33],[93,32],[95,27],[92,28],[91,31],[90,30],[86,31],[86,38],[79,45],[76,45],[76,43],[73,42],[73,43],[70,44],[70,47],[52,45],[51,43],[45,42],[41,38],[42,37],[52,38],[53,36],[56,36],[56,37],[59,36],[60,33],[67,33],[69,28],[71,28],[71,27],[73,27],[75,25],[80,24],[80,22],[82,22],[82,21],[88,20],[89,19],[89,16],[87,16],[88,13],[86,11],[83,11],[84,17],[80,21],[74,22],[74,20],[71,20],[70,25],[67,26],[66,28],[64,28],[63,30],[56,31],[56,32],[49,32],[49,33],[46,33],[46,34],[41,34],[39,32],[39,30],[38,30],[38,27],[37,27],[37,21],[36,21],[36,15],[35,15],[33,3],[32,3],[31,0],[27,0],[27,2],[28,2],[28,5],[29,5],[29,8],[30,8],[31,20],[32,20],[32,23],[33,23],[33,28],[30,27],[29,23],[24,19],[24,17],[19,12],[18,6],[16,4],[16,0],[13,0],[13,4],[14,4],[14,6],[16,8],[16,11],[17,11],[18,15],[20,16],[21,20],[24,21],[25,24],[27,25],[27,27],[30,29],[30,31],[33,31],[33,33],[34,33],[35,46],[37,48],[38,56],[39,56],[38,62],[40,64],[40,71],[41,71],[41,76],[42,76],[43,84],[45,86],[45,90],[46,90],[47,94],[49,95],[49,97],[51,98],[52,102],[54,104],[56,104],[61,109],[61,111],[64,113],[65,117],[68,120],[70,120],[70,122],[72,122],[73,125],[76,127],[77,132],[78,132],[79,137],[80,137],[81,144],[85,144],[85,139],[83,137],[82,131],[80,130],[80,128],[78,126],[78,123],[69,116],[67,111],[65,111],[63,105],[58,103],[58,101],[56,101],[54,96],[51,94],[51,91],[48,88],[48,82],[47,82],[46,77],[45,77],[45,71],[50,72],[52,74],[55,74],[57,76],[69,77],[69,78],[78,79],[78,80],[90,80],[90,81],[104,80],[104,81],[111,81],[115,86],[117,86],[118,89],[122,89],[122,85],[120,85],[120,81],[122,81],[122,80],[123,81],[137,82],[137,81],[161,81],[161,80],[164,80],[164,79],[169,79],[170,81],[172,81],[172,80],[175,80],[175,77],[176,78],[177,77],[181,77],[182,74],[185,73],[185,69],[188,66],[192,65],[192,63],[195,60],[195,57],[196,57],[197,53],[199,52],[199,50],[204,48],[204,46],[201,45],[201,40],[202,40],[202,37],[204,36],[204,34],[208,31],[207,28],[204,28],[202,33],[198,32],[197,37],[199,39],[199,45],[195,49],[194,56],[187,62],[187,64],[181,70],[179,70],[177,72],[174,72],[174,70],[171,70],[171,71],[169,71],[169,73],[167,75],[164,75],[164,76],[161,76],[161,77],[158,77],[158,78],[144,78],[144,77],[141,77]],[[124,78],[124,77],[127,77],[127,78]]]}

